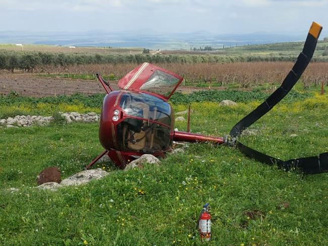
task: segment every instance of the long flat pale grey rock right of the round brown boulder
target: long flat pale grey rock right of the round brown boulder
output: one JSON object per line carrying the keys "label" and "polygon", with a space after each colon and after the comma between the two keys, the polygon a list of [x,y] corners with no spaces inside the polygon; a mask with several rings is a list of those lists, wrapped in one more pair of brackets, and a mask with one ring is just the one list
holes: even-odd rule
{"label": "long flat pale grey rock right of the round brown boulder", "polygon": [[79,184],[88,183],[91,180],[96,180],[106,176],[108,172],[98,168],[78,172],[61,182],[61,186],[78,186]]}

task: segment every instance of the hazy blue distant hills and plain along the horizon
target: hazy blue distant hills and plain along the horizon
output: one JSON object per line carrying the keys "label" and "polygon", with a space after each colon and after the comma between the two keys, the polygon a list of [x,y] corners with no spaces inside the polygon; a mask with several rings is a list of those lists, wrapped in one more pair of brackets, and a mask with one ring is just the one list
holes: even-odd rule
{"label": "hazy blue distant hills and plain along the horizon", "polygon": [[[145,34],[146,33],[146,34]],[[0,43],[50,44],[62,46],[144,47],[150,49],[190,49],[212,47],[303,41],[304,35],[273,33],[212,34],[207,31],[192,33],[110,33],[100,30],[88,32],[0,32]]]}

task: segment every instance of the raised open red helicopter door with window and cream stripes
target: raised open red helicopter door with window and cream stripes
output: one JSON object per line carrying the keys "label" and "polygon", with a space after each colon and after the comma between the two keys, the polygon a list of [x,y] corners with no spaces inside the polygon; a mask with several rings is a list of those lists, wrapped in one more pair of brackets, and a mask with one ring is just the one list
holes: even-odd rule
{"label": "raised open red helicopter door with window and cream stripes", "polygon": [[149,63],[143,63],[119,81],[125,90],[147,93],[168,100],[183,78]]}

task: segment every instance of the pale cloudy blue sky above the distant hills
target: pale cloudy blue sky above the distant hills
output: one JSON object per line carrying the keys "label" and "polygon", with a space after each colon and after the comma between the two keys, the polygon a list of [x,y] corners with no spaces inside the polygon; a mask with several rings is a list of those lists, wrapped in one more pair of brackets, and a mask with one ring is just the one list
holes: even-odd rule
{"label": "pale cloudy blue sky above the distant hills", "polygon": [[328,0],[0,0],[0,9],[0,31],[299,34],[316,21],[328,35]]}

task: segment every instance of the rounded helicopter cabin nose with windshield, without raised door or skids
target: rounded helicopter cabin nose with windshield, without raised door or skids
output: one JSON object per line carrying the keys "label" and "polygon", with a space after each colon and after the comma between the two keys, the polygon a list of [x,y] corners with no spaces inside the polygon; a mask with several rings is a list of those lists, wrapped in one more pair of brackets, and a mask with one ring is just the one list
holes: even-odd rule
{"label": "rounded helicopter cabin nose with windshield, without raised door or skids", "polygon": [[[100,132],[106,131],[101,136],[110,136],[100,138],[104,147],[154,153],[170,146],[174,117],[172,107],[165,99],[141,92],[112,92],[105,97],[103,109],[111,107],[113,101],[114,107],[109,114],[102,114],[102,123],[111,124],[111,127],[100,126]],[[114,117],[118,119],[114,120]]]}

